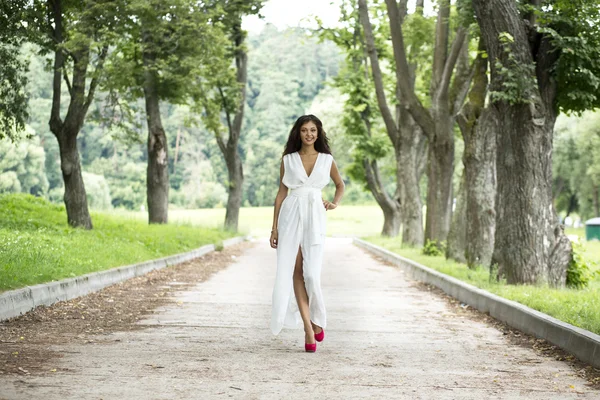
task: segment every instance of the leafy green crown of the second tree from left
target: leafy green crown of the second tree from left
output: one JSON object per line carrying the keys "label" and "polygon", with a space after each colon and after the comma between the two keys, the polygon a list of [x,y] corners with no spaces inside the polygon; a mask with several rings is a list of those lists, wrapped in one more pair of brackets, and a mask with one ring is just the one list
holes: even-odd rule
{"label": "leafy green crown of the second tree from left", "polygon": [[107,124],[136,136],[135,100],[151,76],[159,99],[171,104],[191,104],[203,96],[205,81],[229,70],[227,40],[222,24],[215,22],[221,8],[192,0],[133,0],[118,18],[114,49],[105,69],[103,89]]}

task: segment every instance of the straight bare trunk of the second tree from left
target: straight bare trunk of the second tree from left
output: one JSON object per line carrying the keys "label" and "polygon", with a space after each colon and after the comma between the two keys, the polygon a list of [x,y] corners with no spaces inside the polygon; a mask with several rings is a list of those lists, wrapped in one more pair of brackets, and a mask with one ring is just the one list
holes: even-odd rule
{"label": "straight bare trunk of the second tree from left", "polygon": [[154,70],[155,56],[149,50],[150,35],[142,39],[148,46],[143,53],[144,100],[148,125],[148,167],[146,170],[146,198],[148,201],[148,222],[166,224],[169,219],[169,156],[167,135],[160,117],[160,97],[158,76]]}

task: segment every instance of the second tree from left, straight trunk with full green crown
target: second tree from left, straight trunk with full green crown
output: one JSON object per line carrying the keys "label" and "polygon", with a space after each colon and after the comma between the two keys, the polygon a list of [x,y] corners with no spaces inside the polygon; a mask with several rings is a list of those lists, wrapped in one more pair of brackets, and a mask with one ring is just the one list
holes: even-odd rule
{"label": "second tree from left, straight trunk with full green crown", "polygon": [[125,101],[144,99],[149,223],[168,222],[169,146],[160,103],[191,102],[199,90],[194,79],[206,76],[213,60],[223,59],[223,37],[211,22],[218,11],[192,0],[132,0],[120,16],[122,40],[111,54],[105,88]]}

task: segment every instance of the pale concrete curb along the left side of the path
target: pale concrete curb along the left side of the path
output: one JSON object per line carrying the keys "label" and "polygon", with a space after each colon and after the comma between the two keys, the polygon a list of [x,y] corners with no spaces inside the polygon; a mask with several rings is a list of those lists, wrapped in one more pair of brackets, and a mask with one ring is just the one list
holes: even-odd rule
{"label": "pale concrete curb along the left side of the path", "polygon": [[[223,240],[223,247],[247,240],[249,236],[238,236]],[[144,261],[137,264],[115,267],[104,271],[92,272],[74,278],[62,279],[21,289],[10,290],[0,294],[0,321],[17,317],[37,306],[49,306],[58,301],[73,299],[96,292],[107,286],[114,285],[147,274],[155,269],[162,269],[170,265],[180,264],[194,258],[201,257],[214,251],[214,244],[207,244],[186,253],[175,254],[156,260]]]}

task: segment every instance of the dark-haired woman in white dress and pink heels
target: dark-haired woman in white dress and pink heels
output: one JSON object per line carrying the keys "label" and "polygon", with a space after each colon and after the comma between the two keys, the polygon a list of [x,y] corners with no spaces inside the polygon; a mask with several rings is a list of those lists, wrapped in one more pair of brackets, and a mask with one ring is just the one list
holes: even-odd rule
{"label": "dark-haired woman in white dress and pink heels", "polygon": [[[294,328],[302,322],[305,350],[314,352],[326,325],[321,294],[325,212],[337,208],[344,194],[323,124],[314,115],[298,118],[292,127],[280,173],[270,239],[277,249],[271,330],[277,335],[284,326]],[[331,202],[321,198],[329,178],[336,187]]]}

